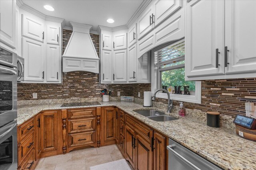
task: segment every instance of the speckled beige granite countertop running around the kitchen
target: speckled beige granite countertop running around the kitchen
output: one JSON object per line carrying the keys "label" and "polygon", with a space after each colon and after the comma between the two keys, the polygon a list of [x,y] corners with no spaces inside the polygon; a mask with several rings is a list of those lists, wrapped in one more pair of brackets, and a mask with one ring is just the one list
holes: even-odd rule
{"label": "speckled beige granite countertop running around the kitchen", "polygon": [[162,107],[148,108],[143,107],[142,104],[120,101],[100,102],[100,104],[97,106],[60,107],[62,103],[30,105],[23,103],[18,105],[17,123],[20,125],[43,110],[116,106],[221,168],[226,170],[256,170],[256,142],[238,137],[233,130],[223,127],[209,127],[205,122],[198,121],[198,119],[180,117],[176,113],[168,114],[178,117],[178,120],[158,122],[134,111],[157,109],[166,112],[166,109],[160,109]]}

